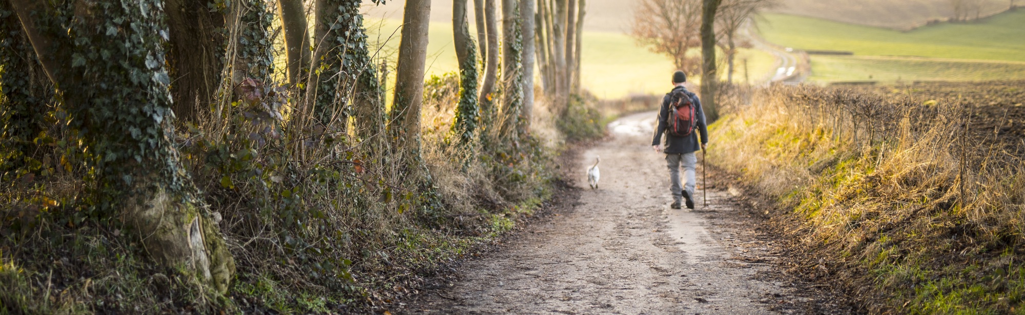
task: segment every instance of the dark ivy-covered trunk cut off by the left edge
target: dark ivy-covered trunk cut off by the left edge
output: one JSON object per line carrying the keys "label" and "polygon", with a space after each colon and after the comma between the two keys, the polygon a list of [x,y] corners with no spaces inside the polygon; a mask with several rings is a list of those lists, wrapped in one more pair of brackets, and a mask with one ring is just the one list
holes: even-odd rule
{"label": "dark ivy-covered trunk cut off by the left edge", "polygon": [[4,173],[35,155],[53,86],[7,1],[0,1],[0,179],[13,180]]}

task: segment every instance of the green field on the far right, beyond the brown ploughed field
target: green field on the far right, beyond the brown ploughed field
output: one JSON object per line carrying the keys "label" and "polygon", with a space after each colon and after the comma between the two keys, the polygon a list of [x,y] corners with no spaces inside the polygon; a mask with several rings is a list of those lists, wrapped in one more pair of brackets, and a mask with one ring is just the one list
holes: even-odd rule
{"label": "green field on the far right, beyond the brown ploughed field", "polygon": [[855,53],[813,55],[812,81],[1025,79],[1025,10],[910,32],[784,14],[766,19],[762,35],[773,43]]}

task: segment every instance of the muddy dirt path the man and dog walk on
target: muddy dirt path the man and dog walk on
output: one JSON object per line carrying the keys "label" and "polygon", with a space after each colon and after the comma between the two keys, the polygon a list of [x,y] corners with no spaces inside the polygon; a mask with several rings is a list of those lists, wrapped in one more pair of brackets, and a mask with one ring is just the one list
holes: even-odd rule
{"label": "muddy dirt path the man and dog walk on", "polygon": [[846,313],[779,270],[777,244],[729,189],[709,189],[707,208],[698,190],[697,211],[669,209],[664,155],[648,145],[654,117],[614,122],[612,139],[572,166],[586,187],[584,170],[601,155],[600,189],[396,313]]}

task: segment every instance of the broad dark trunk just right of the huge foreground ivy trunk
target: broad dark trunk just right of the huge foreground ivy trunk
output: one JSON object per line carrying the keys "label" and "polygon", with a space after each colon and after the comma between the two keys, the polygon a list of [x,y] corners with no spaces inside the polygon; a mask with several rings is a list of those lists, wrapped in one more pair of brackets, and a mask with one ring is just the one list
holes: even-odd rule
{"label": "broad dark trunk just right of the huge foreground ivy trunk", "polygon": [[224,14],[208,8],[210,0],[167,0],[168,75],[178,122],[194,122],[208,112],[223,68]]}

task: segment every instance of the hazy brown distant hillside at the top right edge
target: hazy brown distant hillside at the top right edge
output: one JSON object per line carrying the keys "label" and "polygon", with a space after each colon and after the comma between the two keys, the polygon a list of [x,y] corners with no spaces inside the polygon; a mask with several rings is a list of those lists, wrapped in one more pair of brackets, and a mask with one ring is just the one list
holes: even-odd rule
{"label": "hazy brown distant hillside at the top right edge", "polygon": [[[1010,0],[978,1],[981,3],[982,16],[999,13],[1011,6]],[[779,13],[898,30],[912,29],[931,19],[945,20],[954,15],[951,0],[780,0],[780,2],[781,6],[774,10]],[[974,18],[975,9],[970,9],[969,15]]]}

